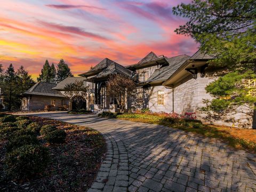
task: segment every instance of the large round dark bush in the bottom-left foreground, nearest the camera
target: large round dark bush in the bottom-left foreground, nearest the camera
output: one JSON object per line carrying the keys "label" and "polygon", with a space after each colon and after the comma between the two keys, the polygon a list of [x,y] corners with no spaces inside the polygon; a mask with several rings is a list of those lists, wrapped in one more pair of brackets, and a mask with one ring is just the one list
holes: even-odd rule
{"label": "large round dark bush in the bottom-left foreground, nearest the camera", "polygon": [[29,179],[44,171],[48,162],[49,153],[45,147],[25,145],[6,155],[5,172],[11,179]]}

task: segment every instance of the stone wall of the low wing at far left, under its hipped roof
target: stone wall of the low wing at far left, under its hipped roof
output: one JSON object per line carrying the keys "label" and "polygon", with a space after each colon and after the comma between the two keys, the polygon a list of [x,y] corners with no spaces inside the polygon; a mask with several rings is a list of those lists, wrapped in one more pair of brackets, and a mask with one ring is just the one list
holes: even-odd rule
{"label": "stone wall of the low wing at far left, under its hipped roof", "polygon": [[69,101],[66,98],[56,97],[42,97],[42,96],[30,96],[22,99],[21,110],[44,110],[45,106],[52,105],[52,101],[55,100],[54,109],[58,110],[61,106],[68,106]]}

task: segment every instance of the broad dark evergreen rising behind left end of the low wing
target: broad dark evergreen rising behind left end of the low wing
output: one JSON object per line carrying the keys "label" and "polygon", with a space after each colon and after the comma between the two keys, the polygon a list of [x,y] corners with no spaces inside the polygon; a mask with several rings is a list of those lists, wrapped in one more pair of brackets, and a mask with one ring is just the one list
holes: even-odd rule
{"label": "broad dark evergreen rising behind left end of the low wing", "polygon": [[26,71],[23,66],[20,66],[15,75],[17,79],[17,88],[19,89],[19,93],[25,92],[35,84],[34,80],[31,78],[31,75],[28,74],[28,71]]}

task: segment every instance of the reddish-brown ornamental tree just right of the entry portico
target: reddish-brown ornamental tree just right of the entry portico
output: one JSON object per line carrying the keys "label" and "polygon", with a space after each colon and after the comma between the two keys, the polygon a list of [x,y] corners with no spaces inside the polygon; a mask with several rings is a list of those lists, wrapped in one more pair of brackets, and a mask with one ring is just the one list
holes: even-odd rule
{"label": "reddish-brown ornamental tree just right of the entry portico", "polygon": [[136,83],[124,75],[113,75],[108,79],[107,95],[116,98],[120,112],[124,113],[127,106],[127,98],[133,97],[136,91]]}

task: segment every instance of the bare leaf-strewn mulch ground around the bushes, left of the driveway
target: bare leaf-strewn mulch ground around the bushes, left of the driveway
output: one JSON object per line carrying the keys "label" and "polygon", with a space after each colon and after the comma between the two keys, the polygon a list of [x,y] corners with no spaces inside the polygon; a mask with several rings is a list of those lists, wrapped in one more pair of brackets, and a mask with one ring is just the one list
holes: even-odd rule
{"label": "bare leaf-strewn mulch ground around the bushes, left of the driveway", "polygon": [[25,182],[4,177],[3,159],[6,141],[0,141],[0,191],[86,191],[97,173],[105,152],[105,140],[95,130],[52,119],[29,117],[41,125],[52,124],[67,133],[66,143],[49,145],[51,162],[45,172]]}

